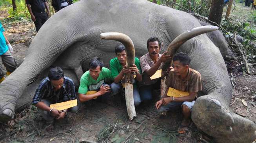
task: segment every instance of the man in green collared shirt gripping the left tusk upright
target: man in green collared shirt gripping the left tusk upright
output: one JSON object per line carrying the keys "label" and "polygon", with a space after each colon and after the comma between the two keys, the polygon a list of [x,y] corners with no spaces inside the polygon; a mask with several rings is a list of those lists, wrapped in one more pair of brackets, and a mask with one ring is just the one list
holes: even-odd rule
{"label": "man in green collared shirt gripping the left tusk upright", "polygon": [[135,73],[135,81],[133,84],[133,99],[134,105],[138,106],[141,102],[140,94],[138,92],[137,81],[142,81],[142,72],[140,68],[140,60],[135,57],[133,67],[127,69],[126,66],[126,52],[124,45],[117,45],[115,47],[116,57],[110,60],[110,69],[114,82],[111,84],[113,95],[117,94],[120,89],[120,83],[124,81],[125,73]]}

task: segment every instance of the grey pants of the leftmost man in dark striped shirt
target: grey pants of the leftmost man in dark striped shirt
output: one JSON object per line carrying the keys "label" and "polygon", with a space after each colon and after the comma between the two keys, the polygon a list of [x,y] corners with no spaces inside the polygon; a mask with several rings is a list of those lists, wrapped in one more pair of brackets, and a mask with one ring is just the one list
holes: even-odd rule
{"label": "grey pants of the leftmost man in dark striped shirt", "polygon": [[[53,101],[51,100],[42,100],[41,102],[44,102],[45,105],[49,106],[50,107],[50,104],[54,104]],[[47,122],[53,122],[54,121],[54,117],[51,116],[50,112],[49,111],[45,111],[45,110],[42,110],[40,108],[37,108],[38,110],[38,113],[47,121]],[[68,112],[71,112],[71,113],[76,113],[78,111],[78,107],[77,106],[74,106],[74,107],[71,107],[68,109]]]}

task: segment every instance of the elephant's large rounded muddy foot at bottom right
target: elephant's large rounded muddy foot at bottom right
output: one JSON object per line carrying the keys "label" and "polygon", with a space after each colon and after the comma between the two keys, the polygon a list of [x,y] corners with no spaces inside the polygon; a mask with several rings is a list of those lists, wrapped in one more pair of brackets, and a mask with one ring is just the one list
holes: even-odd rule
{"label": "elephant's large rounded muddy foot at bottom right", "polygon": [[229,105],[210,95],[196,100],[191,118],[198,129],[218,143],[251,143],[256,139],[254,122],[233,113]]}

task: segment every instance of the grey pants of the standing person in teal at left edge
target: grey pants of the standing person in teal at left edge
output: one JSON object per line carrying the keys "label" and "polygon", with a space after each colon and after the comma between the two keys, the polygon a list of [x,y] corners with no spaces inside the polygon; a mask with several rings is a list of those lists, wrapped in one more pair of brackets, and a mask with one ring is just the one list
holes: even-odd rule
{"label": "grey pants of the standing person in teal at left edge", "polygon": [[2,62],[4,64],[4,66],[6,67],[7,75],[9,75],[13,71],[15,71],[17,64],[16,64],[15,60],[13,59],[13,56],[11,55],[9,50],[7,52],[5,52],[4,55],[2,55]]}

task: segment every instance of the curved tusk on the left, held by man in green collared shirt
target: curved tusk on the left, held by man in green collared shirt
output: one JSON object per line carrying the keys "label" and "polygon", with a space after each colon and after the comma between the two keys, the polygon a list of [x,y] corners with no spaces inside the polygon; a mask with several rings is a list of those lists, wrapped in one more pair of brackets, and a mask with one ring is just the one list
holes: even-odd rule
{"label": "curved tusk on the left, held by man in green collared shirt", "polygon": [[[118,33],[118,32],[107,32],[100,34],[100,38],[105,40],[116,40],[121,42],[125,46],[126,51],[126,65],[127,67],[131,67],[134,64],[135,58],[135,49],[133,45],[133,41],[129,36]],[[134,77],[133,74],[126,74],[125,75],[125,101],[127,107],[127,113],[130,120],[133,120],[136,115],[134,100],[133,100],[133,82]]]}

